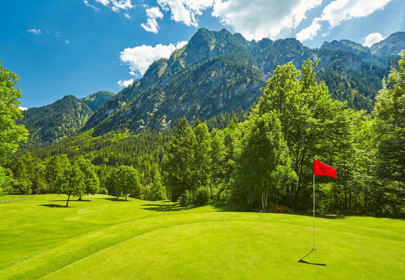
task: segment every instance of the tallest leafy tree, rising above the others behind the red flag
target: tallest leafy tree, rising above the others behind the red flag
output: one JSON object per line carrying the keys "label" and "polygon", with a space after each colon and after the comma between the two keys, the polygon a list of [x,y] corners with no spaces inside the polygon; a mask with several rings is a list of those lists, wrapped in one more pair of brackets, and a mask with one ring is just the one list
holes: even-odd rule
{"label": "tallest leafy tree, rising above the others behind the red flag", "polygon": [[344,103],[332,100],[324,83],[315,81],[317,65],[318,60],[308,59],[302,71],[291,62],[277,66],[254,109],[258,115],[275,112],[280,120],[291,167],[298,175],[286,185],[285,200],[290,207],[305,204],[303,197],[309,197],[312,159],[330,159],[343,148],[342,139],[350,137],[349,111]]}

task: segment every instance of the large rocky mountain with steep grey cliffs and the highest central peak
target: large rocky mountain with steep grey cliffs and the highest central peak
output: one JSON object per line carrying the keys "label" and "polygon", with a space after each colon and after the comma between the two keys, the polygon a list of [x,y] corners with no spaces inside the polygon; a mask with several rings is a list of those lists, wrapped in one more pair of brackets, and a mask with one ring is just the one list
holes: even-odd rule
{"label": "large rocky mountain with steep grey cliffs and the highest central peak", "polygon": [[386,58],[371,64],[362,53],[369,59],[379,56],[360,44],[333,44],[340,47],[310,49],[295,38],[247,41],[225,29],[201,28],[187,45],[153,62],[142,78],[100,106],[83,130],[94,128],[101,135],[117,128],[165,129],[183,115],[189,121],[205,120],[238,106],[246,110],[258,100],[277,65],[291,61],[301,68],[308,58],[321,59],[317,70],[324,72],[319,81],[333,89],[334,98],[370,112],[383,85]]}

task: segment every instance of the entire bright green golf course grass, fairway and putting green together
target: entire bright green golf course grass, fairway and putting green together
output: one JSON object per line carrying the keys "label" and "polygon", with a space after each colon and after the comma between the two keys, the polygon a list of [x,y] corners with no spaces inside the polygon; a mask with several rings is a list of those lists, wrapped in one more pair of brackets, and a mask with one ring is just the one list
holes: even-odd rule
{"label": "entire bright green golf course grass, fairway and putting green together", "polygon": [[183,209],[106,195],[69,202],[69,208],[55,201],[65,199],[38,195],[0,204],[0,279],[405,275],[401,219],[317,217],[317,251],[311,252],[309,216]]}

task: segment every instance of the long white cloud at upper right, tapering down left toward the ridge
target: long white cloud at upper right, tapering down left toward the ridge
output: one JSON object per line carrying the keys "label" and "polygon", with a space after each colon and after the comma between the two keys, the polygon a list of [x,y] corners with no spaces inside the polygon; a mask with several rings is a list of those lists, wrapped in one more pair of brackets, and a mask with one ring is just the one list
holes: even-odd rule
{"label": "long white cloud at upper right, tapering down left toward the ridge", "polygon": [[333,28],[343,21],[370,15],[374,11],[382,10],[392,0],[335,0],[330,2],[320,17],[313,19],[311,25],[296,34],[301,42],[311,40],[316,36],[322,25],[320,21],[326,21]]}

